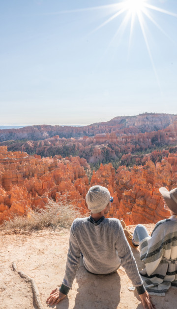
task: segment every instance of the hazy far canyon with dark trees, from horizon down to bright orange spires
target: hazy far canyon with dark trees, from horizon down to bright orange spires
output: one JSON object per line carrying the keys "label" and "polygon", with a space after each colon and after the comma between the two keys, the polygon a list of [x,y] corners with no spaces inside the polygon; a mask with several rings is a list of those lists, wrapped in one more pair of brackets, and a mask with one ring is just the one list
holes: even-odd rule
{"label": "hazy far canyon with dark trees, from horizon down to bright orange spires", "polygon": [[[49,129],[51,131],[47,131]],[[54,135],[56,133],[59,135]],[[67,137],[68,133],[72,137]],[[82,136],[77,137],[79,134]],[[17,139],[22,137],[24,139]],[[158,160],[166,156],[164,150],[176,152],[173,147],[177,145],[177,116],[145,113],[116,117],[107,123],[87,127],[32,126],[0,130],[0,140],[0,146],[7,146],[8,151],[29,155],[79,156],[89,164],[115,162],[118,163],[116,168],[118,165],[141,165],[146,162],[145,154],[154,150],[161,151]],[[153,161],[153,153],[151,157]]]}

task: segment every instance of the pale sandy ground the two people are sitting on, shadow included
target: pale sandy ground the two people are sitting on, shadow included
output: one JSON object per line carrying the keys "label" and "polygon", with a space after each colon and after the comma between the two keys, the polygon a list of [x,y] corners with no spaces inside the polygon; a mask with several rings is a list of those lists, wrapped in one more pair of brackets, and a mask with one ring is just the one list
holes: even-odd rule
{"label": "pale sandy ground the two people are sitting on, shadow included", "polygon": [[[149,225],[149,231],[153,225]],[[133,230],[133,226],[129,227]],[[143,306],[123,268],[113,275],[91,275],[82,261],[68,297],[58,305],[47,306],[51,291],[62,282],[65,270],[69,232],[39,231],[27,234],[0,232],[0,309],[37,309],[33,301],[31,284],[14,272],[18,270],[32,277],[38,287],[43,308],[56,309],[142,309]],[[132,250],[139,269],[139,251]],[[156,309],[175,309],[176,290],[171,288],[165,297],[151,297]]]}

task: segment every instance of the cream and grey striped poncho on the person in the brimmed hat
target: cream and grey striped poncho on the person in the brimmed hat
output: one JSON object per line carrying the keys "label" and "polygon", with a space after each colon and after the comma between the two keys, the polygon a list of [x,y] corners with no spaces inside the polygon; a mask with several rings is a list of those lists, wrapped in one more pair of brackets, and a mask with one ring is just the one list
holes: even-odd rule
{"label": "cream and grey striped poncho on the person in the brimmed hat", "polygon": [[170,286],[177,288],[177,221],[159,221],[151,237],[140,242],[140,251],[146,266],[140,275],[148,293],[165,296]]}

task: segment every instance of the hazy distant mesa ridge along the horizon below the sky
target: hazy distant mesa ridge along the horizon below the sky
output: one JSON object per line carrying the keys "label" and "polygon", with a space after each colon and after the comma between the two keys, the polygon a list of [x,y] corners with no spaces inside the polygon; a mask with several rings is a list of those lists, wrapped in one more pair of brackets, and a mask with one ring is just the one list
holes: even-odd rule
{"label": "hazy distant mesa ridge along the horizon below the sky", "polygon": [[[100,133],[116,132],[121,134],[138,134],[163,130],[177,122],[177,115],[144,113],[137,116],[115,117],[108,122],[94,123],[84,127],[37,125],[20,129],[0,130],[0,141],[9,139],[43,140],[59,135],[60,137],[94,136]],[[125,130],[126,129],[126,130]]]}

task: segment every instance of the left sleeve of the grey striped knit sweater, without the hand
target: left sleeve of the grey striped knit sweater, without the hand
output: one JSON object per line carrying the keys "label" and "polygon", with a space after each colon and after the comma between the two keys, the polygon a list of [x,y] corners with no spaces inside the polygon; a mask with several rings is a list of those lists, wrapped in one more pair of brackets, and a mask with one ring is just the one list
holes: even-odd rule
{"label": "left sleeve of the grey striped knit sweater, without the hand", "polygon": [[[69,249],[67,254],[65,275],[62,281],[61,288],[63,287],[63,285],[65,287],[71,288],[79,266],[80,257],[81,257],[80,248],[74,236],[74,222],[73,222],[70,230]],[[67,289],[67,293],[68,291],[69,290]]]}

